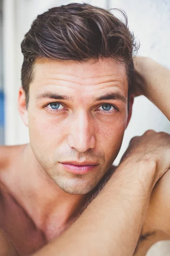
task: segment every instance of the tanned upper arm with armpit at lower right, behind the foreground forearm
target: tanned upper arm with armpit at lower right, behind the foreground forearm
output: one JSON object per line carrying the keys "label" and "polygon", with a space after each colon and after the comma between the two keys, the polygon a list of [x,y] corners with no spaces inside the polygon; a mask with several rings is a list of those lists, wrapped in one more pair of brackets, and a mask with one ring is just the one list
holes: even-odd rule
{"label": "tanned upper arm with armpit at lower right, behind the foreground forearm", "polygon": [[170,240],[170,170],[156,183],[150,197],[135,256],[145,255],[157,241]]}

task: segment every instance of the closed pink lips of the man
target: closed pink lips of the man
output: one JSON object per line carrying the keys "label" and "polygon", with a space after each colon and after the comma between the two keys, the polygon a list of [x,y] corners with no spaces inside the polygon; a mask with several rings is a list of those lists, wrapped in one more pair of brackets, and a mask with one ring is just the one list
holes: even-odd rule
{"label": "closed pink lips of the man", "polygon": [[68,172],[74,173],[74,174],[86,174],[88,172],[91,172],[93,169],[98,166],[98,163],[92,163],[92,162],[65,162],[61,163],[62,166],[67,169]]}

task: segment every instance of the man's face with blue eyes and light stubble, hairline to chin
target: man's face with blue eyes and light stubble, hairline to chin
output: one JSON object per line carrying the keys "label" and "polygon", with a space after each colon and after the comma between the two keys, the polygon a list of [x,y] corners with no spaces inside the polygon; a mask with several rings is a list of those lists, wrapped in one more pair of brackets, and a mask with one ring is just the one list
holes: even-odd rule
{"label": "man's face with blue eyes and light stubble, hairline to chin", "polygon": [[[125,65],[113,59],[36,61],[29,89],[30,144],[65,192],[90,192],[111,167],[129,119],[127,90]],[[79,168],[73,161],[87,163]]]}

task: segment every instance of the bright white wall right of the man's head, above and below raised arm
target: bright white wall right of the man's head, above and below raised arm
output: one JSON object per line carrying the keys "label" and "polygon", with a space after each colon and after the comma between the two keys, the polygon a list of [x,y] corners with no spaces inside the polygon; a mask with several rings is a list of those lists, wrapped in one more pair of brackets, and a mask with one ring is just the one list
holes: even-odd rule
{"label": "bright white wall right of the man's head, above and below raised arm", "polygon": [[[149,56],[170,67],[170,1],[169,0],[110,0],[109,8],[121,8],[127,13],[129,28],[140,41],[139,55]],[[144,96],[135,99],[133,114],[125,131],[117,164],[129,141],[153,129],[170,133],[170,122]]]}

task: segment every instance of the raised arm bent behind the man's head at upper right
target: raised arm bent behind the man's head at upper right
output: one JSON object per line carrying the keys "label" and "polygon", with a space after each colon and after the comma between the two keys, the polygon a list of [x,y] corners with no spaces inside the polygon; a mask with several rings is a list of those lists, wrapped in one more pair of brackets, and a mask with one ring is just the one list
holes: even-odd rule
{"label": "raised arm bent behind the man's head at upper right", "polygon": [[137,57],[133,63],[136,94],[150,99],[170,120],[170,70],[145,57]]}

